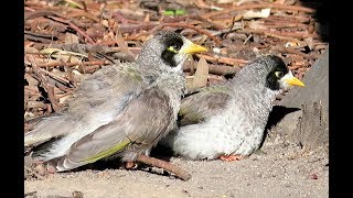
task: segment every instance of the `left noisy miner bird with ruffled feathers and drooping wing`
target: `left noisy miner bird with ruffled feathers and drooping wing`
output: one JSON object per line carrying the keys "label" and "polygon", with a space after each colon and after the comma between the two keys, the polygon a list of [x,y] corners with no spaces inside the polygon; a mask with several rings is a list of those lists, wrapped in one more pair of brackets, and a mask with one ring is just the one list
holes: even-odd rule
{"label": "left noisy miner bird with ruffled feathers and drooping wing", "polygon": [[103,67],[82,81],[65,111],[34,121],[24,146],[38,145],[34,162],[52,164],[57,172],[149,154],[176,127],[188,54],[203,51],[180,34],[158,33],[135,63]]}

